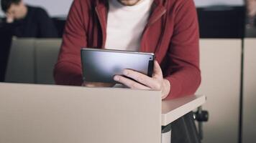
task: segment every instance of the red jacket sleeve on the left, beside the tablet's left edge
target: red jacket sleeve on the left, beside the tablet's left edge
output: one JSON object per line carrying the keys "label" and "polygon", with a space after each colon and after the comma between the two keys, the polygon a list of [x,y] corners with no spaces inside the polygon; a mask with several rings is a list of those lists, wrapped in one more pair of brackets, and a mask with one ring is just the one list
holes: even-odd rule
{"label": "red jacket sleeve on the left, beside the tablet's left edge", "polygon": [[81,6],[80,0],[73,1],[68,14],[63,43],[54,69],[56,84],[81,86],[83,82],[80,50],[81,47],[87,46],[87,38],[84,25],[86,16],[81,15]]}

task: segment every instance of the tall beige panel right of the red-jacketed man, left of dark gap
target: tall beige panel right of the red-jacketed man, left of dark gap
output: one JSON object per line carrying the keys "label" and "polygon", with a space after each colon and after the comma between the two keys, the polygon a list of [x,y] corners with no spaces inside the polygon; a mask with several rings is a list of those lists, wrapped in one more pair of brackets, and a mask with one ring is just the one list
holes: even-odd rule
{"label": "tall beige panel right of the red-jacketed man, left of dark gap", "polygon": [[204,143],[238,142],[240,39],[201,39],[201,87],[203,106],[209,111],[204,124]]}

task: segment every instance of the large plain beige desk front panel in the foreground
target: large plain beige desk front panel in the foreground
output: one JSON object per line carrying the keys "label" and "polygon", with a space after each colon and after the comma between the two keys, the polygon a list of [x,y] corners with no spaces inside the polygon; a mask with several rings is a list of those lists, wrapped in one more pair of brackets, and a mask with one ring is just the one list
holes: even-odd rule
{"label": "large plain beige desk front panel in the foreground", "polygon": [[160,139],[160,92],[0,84],[0,142],[160,143]]}

